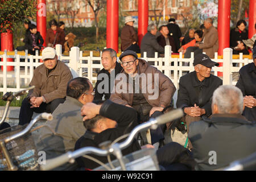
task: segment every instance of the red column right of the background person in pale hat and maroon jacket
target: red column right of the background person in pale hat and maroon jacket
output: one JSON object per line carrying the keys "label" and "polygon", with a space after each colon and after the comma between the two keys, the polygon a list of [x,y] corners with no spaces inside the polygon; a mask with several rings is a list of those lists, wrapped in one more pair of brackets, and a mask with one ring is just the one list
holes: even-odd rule
{"label": "red column right of the background person in pale hat and maroon jacket", "polygon": [[148,26],[148,0],[138,1],[138,39],[141,46],[142,38],[147,34]]}

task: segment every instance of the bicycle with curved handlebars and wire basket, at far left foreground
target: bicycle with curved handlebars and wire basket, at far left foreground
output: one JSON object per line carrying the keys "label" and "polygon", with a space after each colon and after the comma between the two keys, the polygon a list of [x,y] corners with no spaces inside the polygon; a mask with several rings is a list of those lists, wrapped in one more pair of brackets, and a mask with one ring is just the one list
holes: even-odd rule
{"label": "bicycle with curved handlebars and wire basket, at far left foreground", "polygon": [[[15,97],[21,96],[26,93],[27,90],[33,88],[35,88],[35,86],[31,86],[30,88],[14,94],[9,92],[3,96],[3,100],[7,101],[7,103],[0,125],[6,119],[11,101],[13,101]],[[42,118],[52,120],[52,115],[49,113],[42,113],[37,115],[28,125],[13,126],[0,131],[0,171],[39,169],[38,155],[34,140],[31,137],[31,129],[35,123]]]}

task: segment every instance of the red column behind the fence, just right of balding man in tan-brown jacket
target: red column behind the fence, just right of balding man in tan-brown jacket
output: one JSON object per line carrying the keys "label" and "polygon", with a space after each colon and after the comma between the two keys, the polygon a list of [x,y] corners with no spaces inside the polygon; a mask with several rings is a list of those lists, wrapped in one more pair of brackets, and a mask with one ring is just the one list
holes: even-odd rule
{"label": "red column behind the fence, just right of balding man in tan-brown jacket", "polygon": [[[230,5],[231,0],[218,0],[218,55],[223,55],[223,49],[229,47]],[[222,65],[220,63],[220,67]],[[218,76],[223,76],[223,73],[218,72]]]}

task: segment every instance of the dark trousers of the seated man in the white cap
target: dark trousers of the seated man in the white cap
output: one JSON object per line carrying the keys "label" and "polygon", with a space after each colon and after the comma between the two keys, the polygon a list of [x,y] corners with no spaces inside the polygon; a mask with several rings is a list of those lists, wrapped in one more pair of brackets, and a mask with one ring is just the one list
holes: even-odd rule
{"label": "dark trousers of the seated man in the white cap", "polygon": [[46,104],[45,102],[42,102],[42,104],[39,107],[31,107],[30,102],[27,101],[27,98],[25,98],[22,101],[22,106],[20,107],[19,111],[19,125],[25,125],[26,123],[29,123],[32,119],[33,113],[53,113],[53,111],[56,109],[56,107],[65,101],[64,98],[57,98],[53,100],[52,102],[49,102]]}

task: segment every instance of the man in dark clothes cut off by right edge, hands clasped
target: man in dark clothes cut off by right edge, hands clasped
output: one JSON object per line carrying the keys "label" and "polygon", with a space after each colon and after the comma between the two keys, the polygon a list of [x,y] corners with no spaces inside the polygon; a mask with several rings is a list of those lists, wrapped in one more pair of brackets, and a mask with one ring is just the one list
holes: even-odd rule
{"label": "man in dark clothes cut off by right edge, hands clasped", "polygon": [[249,121],[256,121],[256,46],[253,48],[253,63],[243,66],[239,74],[236,86],[243,93],[243,115]]}

